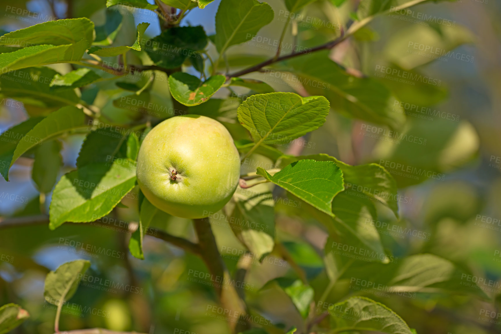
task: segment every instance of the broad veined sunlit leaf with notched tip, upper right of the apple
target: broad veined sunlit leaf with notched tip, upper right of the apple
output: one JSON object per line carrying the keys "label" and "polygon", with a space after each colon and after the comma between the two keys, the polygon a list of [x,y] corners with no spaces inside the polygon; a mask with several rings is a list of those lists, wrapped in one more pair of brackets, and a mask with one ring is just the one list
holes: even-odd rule
{"label": "broad veined sunlit leaf with notched tip, upper right of the apple", "polygon": [[259,144],[288,143],[318,129],[329,113],[323,96],[295,93],[253,95],[238,107],[238,121]]}

